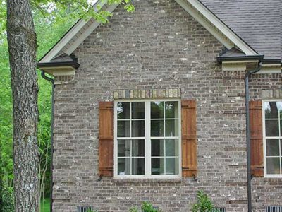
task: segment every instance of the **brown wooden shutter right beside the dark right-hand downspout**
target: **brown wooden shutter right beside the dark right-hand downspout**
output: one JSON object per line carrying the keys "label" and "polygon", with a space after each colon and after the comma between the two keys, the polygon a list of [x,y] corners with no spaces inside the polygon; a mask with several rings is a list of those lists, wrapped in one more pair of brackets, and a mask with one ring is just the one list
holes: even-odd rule
{"label": "brown wooden shutter right beside the dark right-hand downspout", "polygon": [[262,143],[262,100],[250,101],[251,172],[264,176],[264,153]]}

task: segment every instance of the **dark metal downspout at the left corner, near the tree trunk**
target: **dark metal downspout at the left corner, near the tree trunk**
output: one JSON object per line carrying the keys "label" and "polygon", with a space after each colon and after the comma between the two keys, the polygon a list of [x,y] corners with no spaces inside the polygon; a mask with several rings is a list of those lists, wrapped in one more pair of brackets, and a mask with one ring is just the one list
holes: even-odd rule
{"label": "dark metal downspout at the left corner, near the tree trunk", "polygon": [[53,129],[54,129],[54,89],[55,89],[55,83],[54,79],[49,78],[48,76],[45,75],[44,71],[41,71],[41,76],[47,81],[50,81],[52,83],[52,107],[51,107],[51,158],[50,158],[50,184],[51,184],[51,189],[50,189],[50,212],[52,212],[52,204],[53,204]]}

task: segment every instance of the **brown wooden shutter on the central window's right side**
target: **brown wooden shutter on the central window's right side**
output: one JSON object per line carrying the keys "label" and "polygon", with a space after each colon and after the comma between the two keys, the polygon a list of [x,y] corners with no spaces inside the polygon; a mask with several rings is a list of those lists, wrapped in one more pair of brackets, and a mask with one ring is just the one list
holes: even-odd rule
{"label": "brown wooden shutter on the central window's right side", "polygon": [[196,100],[181,101],[182,176],[197,176]]}

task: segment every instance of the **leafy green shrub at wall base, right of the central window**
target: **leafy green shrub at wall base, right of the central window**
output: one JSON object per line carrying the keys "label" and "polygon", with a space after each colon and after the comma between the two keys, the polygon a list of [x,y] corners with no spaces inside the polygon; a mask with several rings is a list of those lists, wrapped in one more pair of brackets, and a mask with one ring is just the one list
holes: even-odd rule
{"label": "leafy green shrub at wall base, right of the central window", "polygon": [[211,212],[214,208],[212,200],[202,190],[197,192],[197,203],[192,205],[192,212]]}

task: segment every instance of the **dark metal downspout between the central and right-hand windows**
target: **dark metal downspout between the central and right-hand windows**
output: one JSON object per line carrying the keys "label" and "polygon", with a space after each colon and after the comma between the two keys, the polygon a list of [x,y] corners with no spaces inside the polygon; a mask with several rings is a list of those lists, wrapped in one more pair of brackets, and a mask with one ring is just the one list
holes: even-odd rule
{"label": "dark metal downspout between the central and right-hand windows", "polygon": [[247,211],[252,212],[252,175],[251,175],[251,145],[250,145],[250,92],[249,92],[249,77],[259,71],[262,64],[259,63],[256,69],[247,71],[245,74],[245,105],[246,105],[246,137],[247,137]]}

